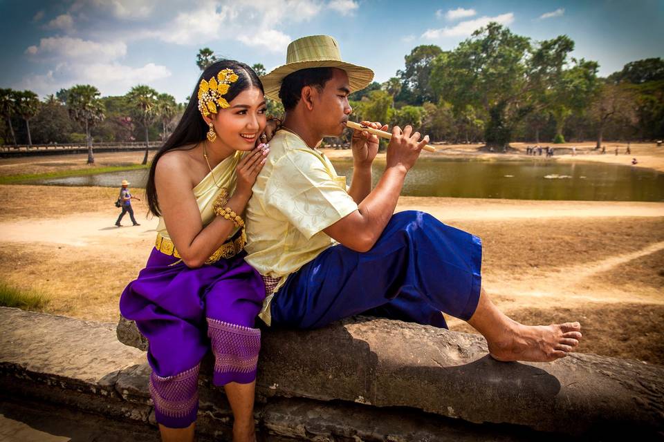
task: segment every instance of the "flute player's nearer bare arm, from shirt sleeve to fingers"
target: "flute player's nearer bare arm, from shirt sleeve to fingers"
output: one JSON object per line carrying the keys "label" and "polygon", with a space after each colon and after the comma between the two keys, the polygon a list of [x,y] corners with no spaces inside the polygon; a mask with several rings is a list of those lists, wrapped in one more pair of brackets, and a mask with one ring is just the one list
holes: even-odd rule
{"label": "flute player's nearer bare arm, from shirt sleeve to fingers", "polygon": [[429,142],[428,135],[420,142],[420,133],[412,131],[411,126],[406,126],[403,133],[398,126],[392,128],[387,166],[376,189],[358,204],[358,210],[324,229],[328,236],[355,251],[365,252],[374,247],[394,213],[406,173]]}

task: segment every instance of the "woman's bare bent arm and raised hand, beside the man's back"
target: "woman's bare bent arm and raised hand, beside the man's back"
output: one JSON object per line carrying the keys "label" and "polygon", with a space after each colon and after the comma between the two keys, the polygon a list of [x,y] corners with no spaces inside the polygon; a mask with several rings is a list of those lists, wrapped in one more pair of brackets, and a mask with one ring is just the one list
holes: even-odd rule
{"label": "woman's bare bent arm and raised hand, beside the man's back", "polygon": [[[256,148],[239,162],[236,189],[226,204],[236,213],[244,211],[251,197],[251,187],[265,164],[266,154],[267,151]],[[234,228],[233,222],[218,216],[203,228],[184,155],[171,154],[160,158],[155,185],[166,229],[183,262],[187,267],[201,267],[228,238]]]}

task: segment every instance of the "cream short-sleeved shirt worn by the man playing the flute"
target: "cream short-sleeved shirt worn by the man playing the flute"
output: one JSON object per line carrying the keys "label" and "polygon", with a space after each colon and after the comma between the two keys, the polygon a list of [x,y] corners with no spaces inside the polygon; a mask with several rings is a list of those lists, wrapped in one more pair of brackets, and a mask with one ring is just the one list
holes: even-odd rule
{"label": "cream short-sleeved shirt worn by the man playing the flute", "polygon": [[[330,160],[294,133],[278,131],[259,173],[246,210],[245,260],[259,273],[286,278],[328,247],[337,244],[323,229],[353,213],[358,205],[347,192],[346,177]],[[266,298],[259,317],[270,325]]]}

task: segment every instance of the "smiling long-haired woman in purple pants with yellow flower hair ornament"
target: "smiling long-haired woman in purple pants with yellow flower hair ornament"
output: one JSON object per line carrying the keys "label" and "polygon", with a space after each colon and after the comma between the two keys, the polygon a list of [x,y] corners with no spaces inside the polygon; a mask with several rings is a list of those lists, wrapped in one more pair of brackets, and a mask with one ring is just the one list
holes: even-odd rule
{"label": "smiling long-haired woman in purple pants with yellow flower hair ornament", "polygon": [[149,340],[150,394],[164,441],[192,441],[201,359],[212,347],[214,385],[223,385],[233,440],[254,441],[253,404],[265,297],[243,260],[241,214],[269,148],[261,81],[246,64],[205,69],[177,128],[158,151],[146,186],[160,217],[145,269],[120,311]]}

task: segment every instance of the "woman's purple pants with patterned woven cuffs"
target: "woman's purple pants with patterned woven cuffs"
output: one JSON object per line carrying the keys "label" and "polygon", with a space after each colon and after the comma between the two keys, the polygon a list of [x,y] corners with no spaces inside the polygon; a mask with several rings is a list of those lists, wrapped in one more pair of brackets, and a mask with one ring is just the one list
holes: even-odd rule
{"label": "woman's purple pants with patterned woven cuffs", "polygon": [[[190,269],[183,262],[175,264],[178,258],[152,249],[145,269],[122,292],[122,316],[135,320],[149,342],[147,359],[154,371],[150,390],[158,423],[178,428],[196,420],[192,370],[197,378],[196,367],[211,340],[215,385],[254,381],[260,331],[253,327],[265,285],[244,256],[239,253]],[[208,323],[214,324],[209,337]],[[196,405],[191,409],[185,403]]]}

